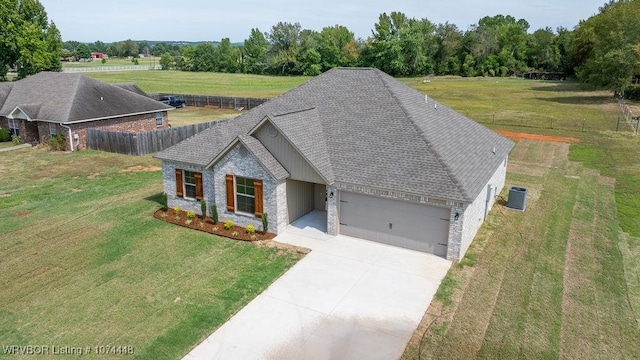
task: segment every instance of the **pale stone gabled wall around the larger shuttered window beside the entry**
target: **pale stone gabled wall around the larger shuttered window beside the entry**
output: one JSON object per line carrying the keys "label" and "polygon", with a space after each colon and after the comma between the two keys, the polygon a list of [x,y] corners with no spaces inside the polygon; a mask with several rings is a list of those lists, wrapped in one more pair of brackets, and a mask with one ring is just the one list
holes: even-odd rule
{"label": "pale stone gabled wall around the larger shuttered window beside the entry", "polygon": [[286,205],[284,205],[284,210],[278,209],[278,200],[281,201],[280,204],[287,203],[286,183],[284,180],[280,182],[275,181],[251,152],[241,152],[241,147],[243,147],[241,144],[236,145],[213,166],[213,173],[215,174],[215,202],[218,206],[220,221],[224,222],[227,219],[231,219],[239,226],[244,227],[251,224],[255,226],[256,229],[262,229],[262,219],[227,211],[225,175],[231,174],[262,180],[262,195],[264,197],[263,210],[268,214],[269,232],[277,233],[278,231],[282,231],[287,221],[287,217],[283,216],[283,214],[286,214]]}

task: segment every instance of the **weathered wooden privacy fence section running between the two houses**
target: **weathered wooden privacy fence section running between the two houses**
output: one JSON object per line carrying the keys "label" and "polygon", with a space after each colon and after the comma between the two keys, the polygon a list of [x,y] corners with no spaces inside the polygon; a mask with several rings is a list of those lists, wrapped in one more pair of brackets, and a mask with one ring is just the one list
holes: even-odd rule
{"label": "weathered wooden privacy fence section running between the two houses", "polygon": [[228,120],[139,133],[87,129],[87,147],[126,155],[146,155],[167,149],[205,129]]}

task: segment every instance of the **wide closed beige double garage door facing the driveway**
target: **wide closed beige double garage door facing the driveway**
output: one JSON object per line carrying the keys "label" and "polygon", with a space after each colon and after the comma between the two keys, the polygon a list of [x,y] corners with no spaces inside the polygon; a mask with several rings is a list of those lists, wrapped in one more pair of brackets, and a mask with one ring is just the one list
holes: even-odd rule
{"label": "wide closed beige double garage door facing the driveway", "polygon": [[341,192],[340,233],[446,257],[450,211]]}

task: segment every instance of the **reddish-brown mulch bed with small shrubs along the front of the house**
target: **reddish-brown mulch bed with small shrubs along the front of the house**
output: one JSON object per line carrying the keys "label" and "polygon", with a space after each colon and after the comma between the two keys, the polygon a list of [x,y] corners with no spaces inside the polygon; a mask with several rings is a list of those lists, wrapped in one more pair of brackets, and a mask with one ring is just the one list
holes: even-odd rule
{"label": "reddish-brown mulch bed with small shrubs along the front of the house", "polygon": [[[168,223],[187,227],[189,229],[204,231],[209,234],[224,236],[226,238],[234,239],[234,240],[261,241],[261,240],[271,240],[276,236],[273,233],[263,233],[257,230],[255,233],[249,234],[247,233],[247,230],[245,228],[237,225],[234,225],[233,227],[231,227],[231,229],[227,230],[224,228],[224,219],[222,219],[223,221],[218,221],[217,224],[214,224],[213,220],[210,217],[207,217],[203,220],[200,216],[196,216],[191,221],[191,223],[189,223],[187,221],[188,220],[187,212],[183,210],[180,210],[180,212],[178,212],[178,215],[176,215],[173,209],[169,209],[166,211],[160,209],[153,214],[153,217],[158,220],[162,220]],[[217,229],[217,230],[214,230],[214,229]],[[234,232],[236,233],[236,235],[234,235]],[[255,238],[252,239],[251,238],[252,235],[254,235]]]}

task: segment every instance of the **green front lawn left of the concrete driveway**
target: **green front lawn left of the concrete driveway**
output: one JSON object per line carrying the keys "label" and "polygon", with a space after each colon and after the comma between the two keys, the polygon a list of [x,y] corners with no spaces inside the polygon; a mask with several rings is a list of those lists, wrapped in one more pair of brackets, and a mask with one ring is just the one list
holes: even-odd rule
{"label": "green front lawn left of the concrete driveway", "polygon": [[180,358],[299,259],[154,219],[158,165],[92,151],[0,153],[1,345]]}

